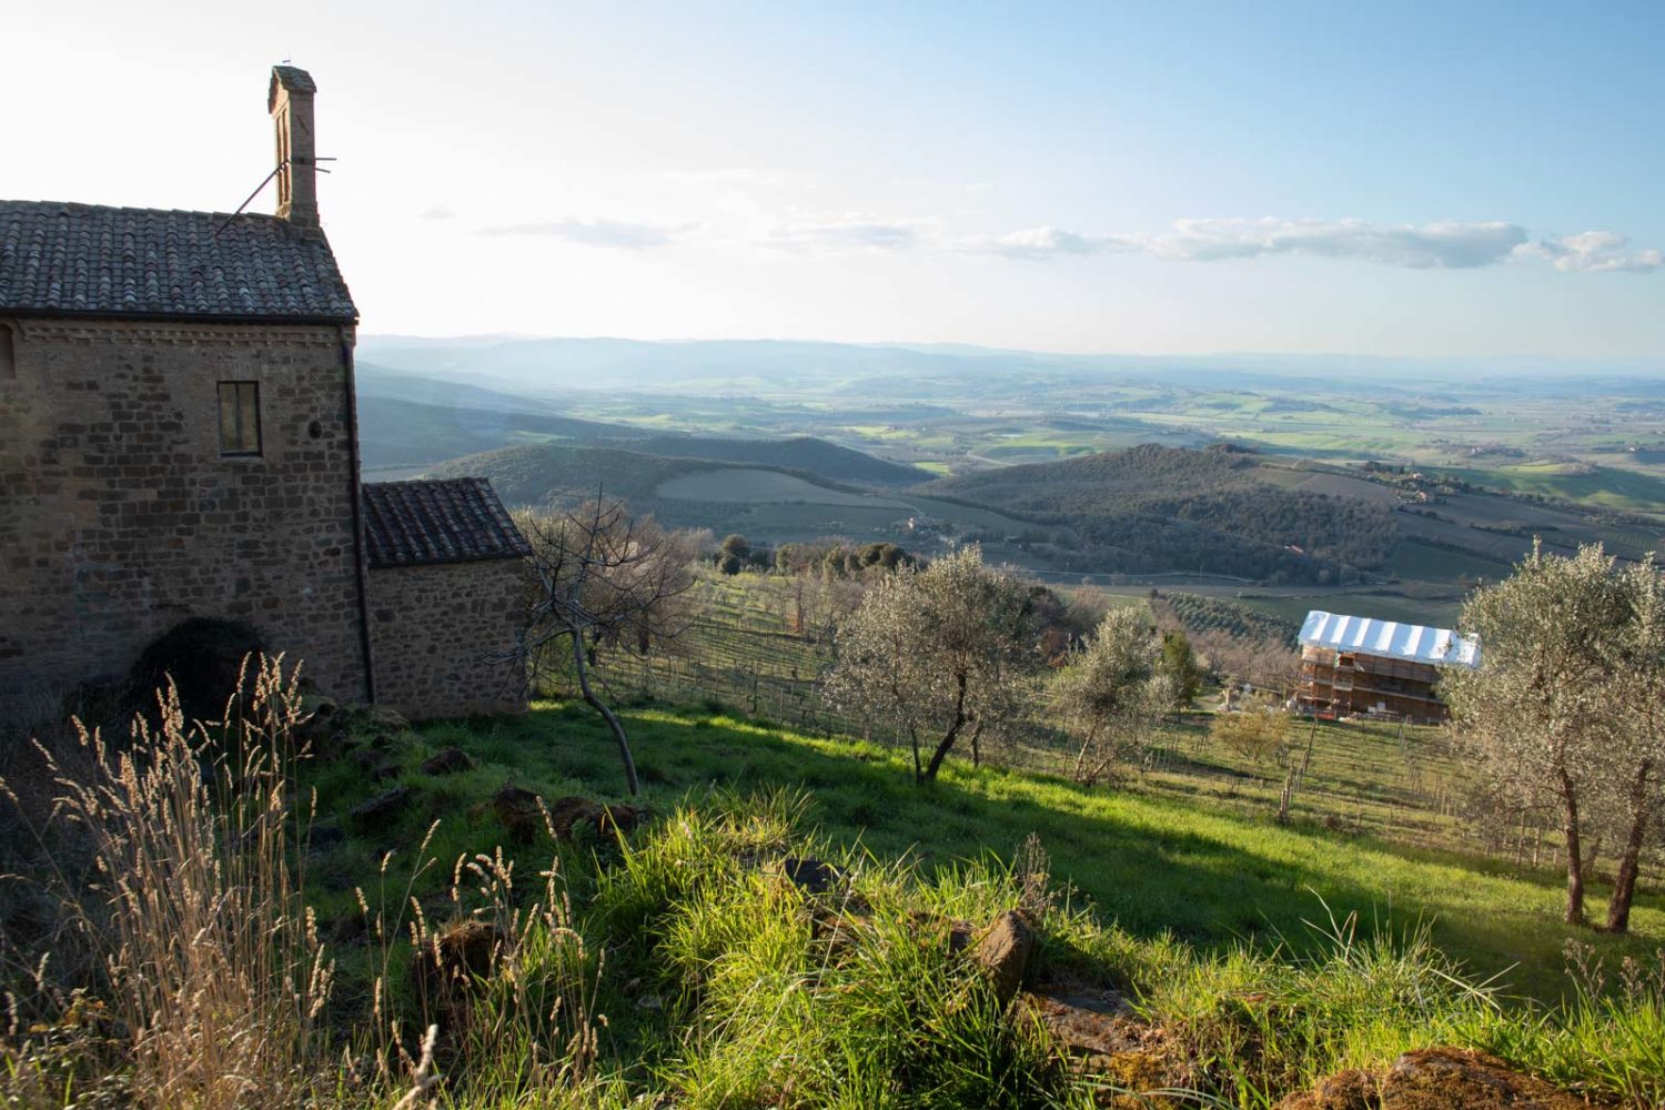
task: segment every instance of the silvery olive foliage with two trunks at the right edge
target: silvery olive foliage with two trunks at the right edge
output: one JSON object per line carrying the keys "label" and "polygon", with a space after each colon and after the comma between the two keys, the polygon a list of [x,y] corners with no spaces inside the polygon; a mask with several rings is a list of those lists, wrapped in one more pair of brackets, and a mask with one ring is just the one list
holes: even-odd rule
{"label": "silvery olive foliage with two trunks at the right edge", "polygon": [[1487,789],[1560,812],[1568,924],[1585,922],[1585,834],[1617,822],[1628,827],[1608,925],[1628,927],[1662,771],[1658,594],[1650,564],[1620,569],[1598,544],[1573,557],[1533,544],[1510,577],[1464,604],[1480,667],[1440,682],[1455,741]]}

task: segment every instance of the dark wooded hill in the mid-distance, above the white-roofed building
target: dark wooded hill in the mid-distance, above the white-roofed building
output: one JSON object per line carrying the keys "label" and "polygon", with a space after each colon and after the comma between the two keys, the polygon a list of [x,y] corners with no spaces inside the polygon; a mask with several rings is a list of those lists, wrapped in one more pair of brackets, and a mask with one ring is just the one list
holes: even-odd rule
{"label": "dark wooded hill in the mid-distance, above the white-roofed building", "polygon": [[927,489],[1067,524],[1116,571],[1329,581],[1382,567],[1390,508],[1265,483],[1252,454],[1142,444],[964,474]]}

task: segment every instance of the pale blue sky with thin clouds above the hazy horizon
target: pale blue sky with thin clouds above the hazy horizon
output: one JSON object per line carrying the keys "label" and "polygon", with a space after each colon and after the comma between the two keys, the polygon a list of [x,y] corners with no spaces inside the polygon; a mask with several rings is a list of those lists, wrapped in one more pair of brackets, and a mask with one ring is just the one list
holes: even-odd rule
{"label": "pale blue sky with thin clouds above the hazy horizon", "polygon": [[231,208],[266,67],[310,68],[373,333],[1665,354],[1657,2],[83,3],[8,38],[25,200]]}

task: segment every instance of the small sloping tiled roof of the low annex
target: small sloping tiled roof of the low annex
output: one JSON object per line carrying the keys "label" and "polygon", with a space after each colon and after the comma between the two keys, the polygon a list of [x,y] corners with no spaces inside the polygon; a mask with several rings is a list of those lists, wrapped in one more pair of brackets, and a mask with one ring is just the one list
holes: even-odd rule
{"label": "small sloping tiled roof of the low annex", "polygon": [[365,483],[370,566],[418,566],[531,554],[485,478]]}

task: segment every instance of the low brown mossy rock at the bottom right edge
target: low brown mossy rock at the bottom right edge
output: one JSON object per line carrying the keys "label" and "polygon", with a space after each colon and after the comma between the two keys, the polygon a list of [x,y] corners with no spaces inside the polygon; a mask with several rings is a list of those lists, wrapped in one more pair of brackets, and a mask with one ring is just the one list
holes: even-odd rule
{"label": "low brown mossy rock at the bottom right edge", "polygon": [[1469,1048],[1419,1048],[1375,1078],[1349,1070],[1279,1110],[1578,1110],[1582,1098]]}

